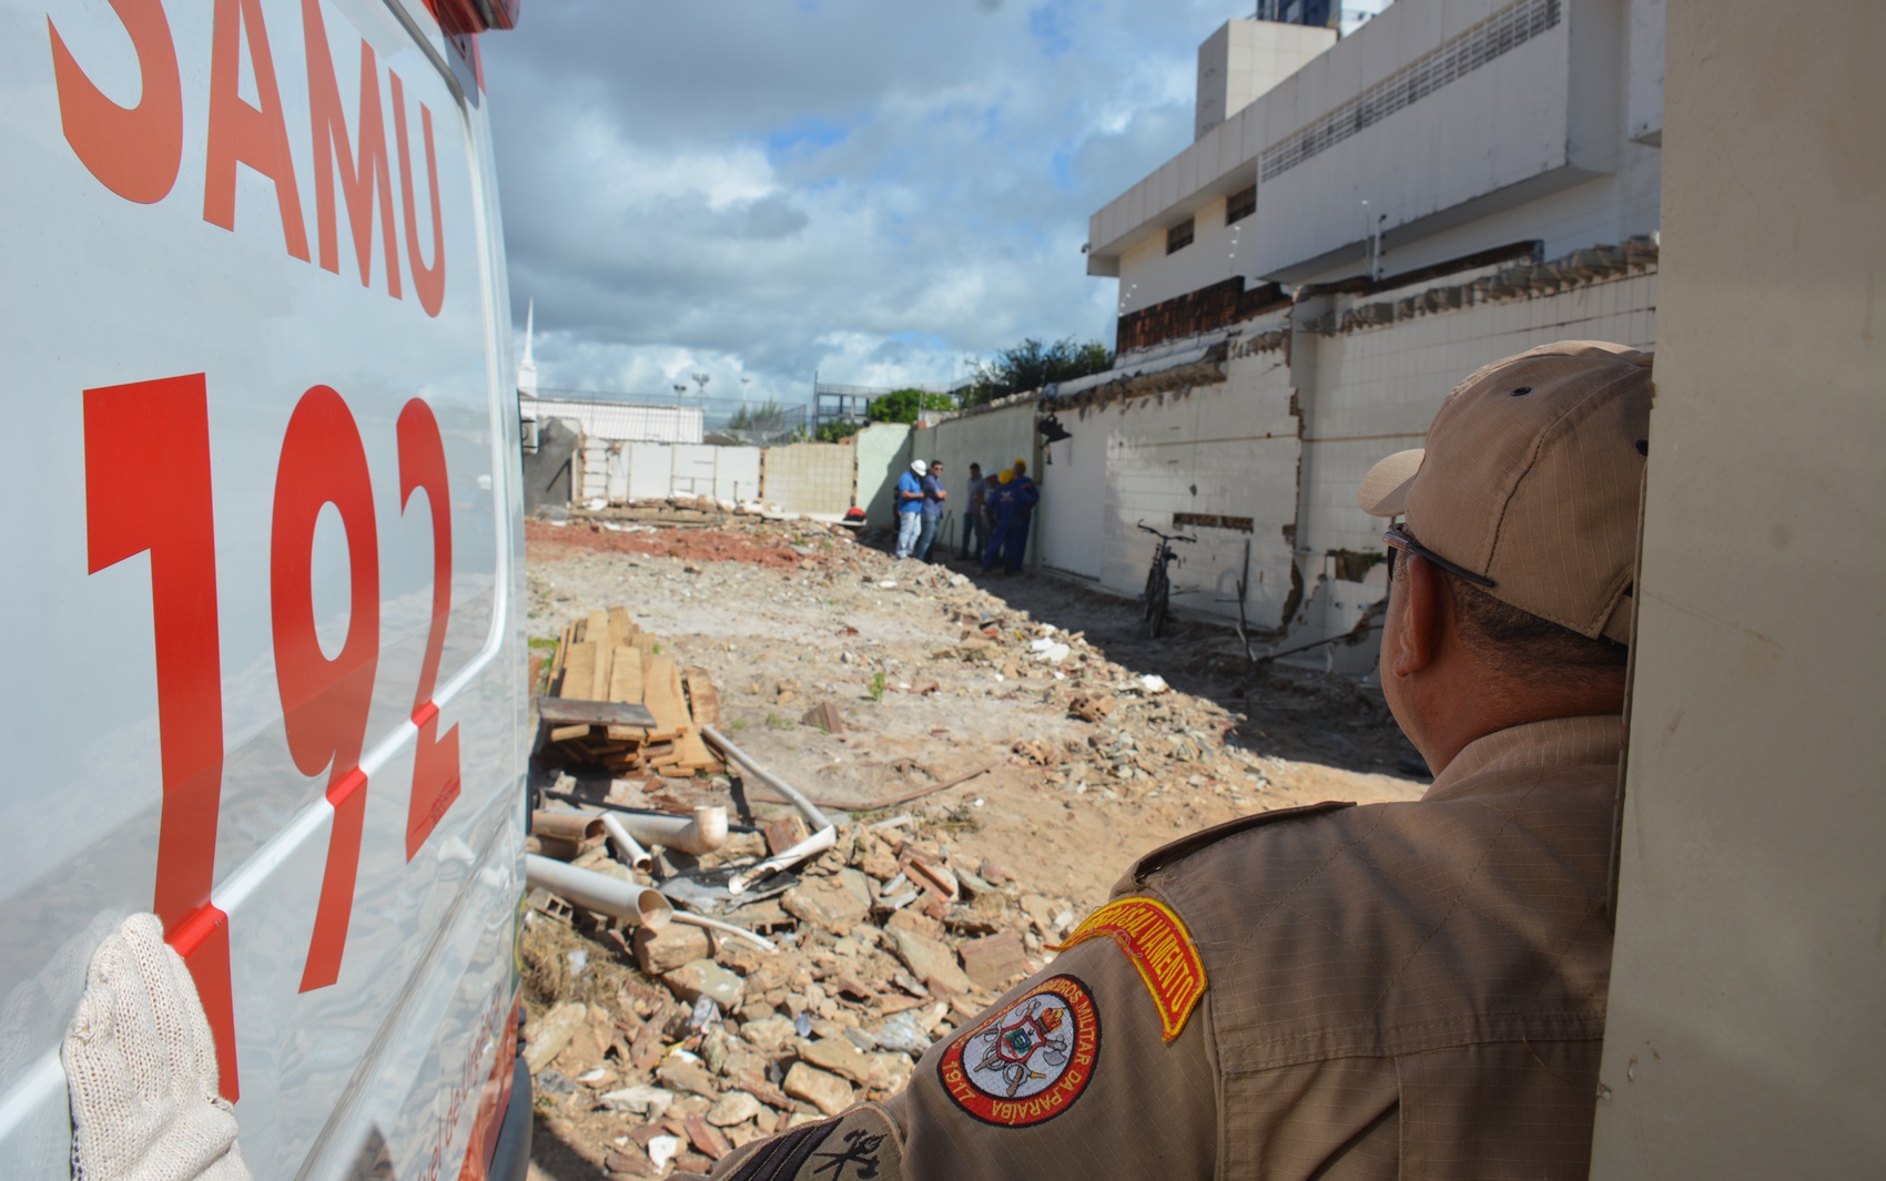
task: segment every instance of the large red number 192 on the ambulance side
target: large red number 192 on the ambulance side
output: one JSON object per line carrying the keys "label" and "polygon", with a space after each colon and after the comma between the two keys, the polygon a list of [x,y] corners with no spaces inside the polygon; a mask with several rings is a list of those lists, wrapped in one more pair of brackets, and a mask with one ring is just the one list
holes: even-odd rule
{"label": "large red number 192 on the ambulance side", "polygon": [[[419,398],[398,421],[400,506],[424,489],[432,513],[432,626],[413,700],[419,728],[405,858],[458,796],[458,728],[439,736],[432,694],[451,619],[451,498],[445,445]],[[347,532],[351,607],[332,660],[313,607],[315,521],[332,504]],[[85,391],[87,566],[96,574],[151,555],[157,647],[158,821],[153,909],[189,962],[217,1040],[223,1092],[238,1096],[228,919],[209,900],[223,787],[223,668],[217,624],[209,408],[202,374]],[[270,524],[270,624],[275,683],[294,766],[326,772],[334,809],[302,990],[339,979],[366,819],[366,745],[379,670],[379,534],[366,449],[338,392],[311,387],[289,417]]]}

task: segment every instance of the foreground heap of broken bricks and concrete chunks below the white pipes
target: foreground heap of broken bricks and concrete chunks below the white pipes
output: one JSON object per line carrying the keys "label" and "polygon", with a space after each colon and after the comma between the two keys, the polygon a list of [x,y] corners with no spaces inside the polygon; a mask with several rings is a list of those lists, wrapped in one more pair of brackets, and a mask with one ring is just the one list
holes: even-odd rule
{"label": "foreground heap of broken bricks and concrete chunks below the white pipes", "polygon": [[756,940],[694,911],[654,928],[532,890],[524,1056],[553,1126],[607,1145],[611,1175],[707,1172],[749,1139],[896,1094],[1075,924],[1069,900],[966,864],[947,811],[847,821],[822,855],[728,894],[730,872],[800,843],[796,821],[698,857],[662,849],[649,873],[605,841],[573,851],[575,868],[647,881]]}

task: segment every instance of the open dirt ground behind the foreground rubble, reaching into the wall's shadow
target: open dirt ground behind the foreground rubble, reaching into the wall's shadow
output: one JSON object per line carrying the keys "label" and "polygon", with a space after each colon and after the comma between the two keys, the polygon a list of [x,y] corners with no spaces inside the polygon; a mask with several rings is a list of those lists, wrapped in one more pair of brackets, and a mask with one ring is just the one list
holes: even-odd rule
{"label": "open dirt ground behind the foreground rubble, reaching into the wall's shadow", "polygon": [[[1058,577],[984,579],[894,560],[835,526],[673,507],[530,521],[526,558],[536,647],[626,606],[713,675],[722,730],[834,819],[907,813],[951,866],[1011,881],[1034,915],[1030,964],[1043,932],[1103,902],[1156,845],[1252,811],[1426,787],[1379,694],[1252,670],[1226,628],[1177,623],[1143,640],[1137,604]],[[822,702],[843,732],[800,723]],[[724,779],[698,789],[736,819],[785,811]],[[626,981],[634,962],[619,972]],[[624,1117],[590,1107],[539,1098],[532,1177],[660,1172],[637,1172],[645,1156],[630,1168]]]}

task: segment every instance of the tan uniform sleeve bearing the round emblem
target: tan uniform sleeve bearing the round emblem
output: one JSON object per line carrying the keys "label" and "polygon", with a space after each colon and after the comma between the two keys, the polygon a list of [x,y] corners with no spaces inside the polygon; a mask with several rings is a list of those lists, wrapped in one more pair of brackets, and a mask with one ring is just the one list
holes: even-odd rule
{"label": "tan uniform sleeve bearing the round emblem", "polygon": [[1111,938],[1071,947],[932,1045],[902,1094],[747,1145],[715,1181],[1211,1177],[1209,1019],[1173,1030],[1143,962]]}

